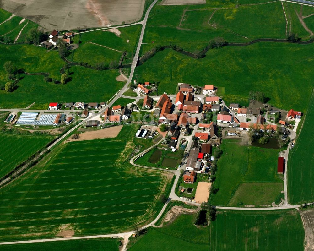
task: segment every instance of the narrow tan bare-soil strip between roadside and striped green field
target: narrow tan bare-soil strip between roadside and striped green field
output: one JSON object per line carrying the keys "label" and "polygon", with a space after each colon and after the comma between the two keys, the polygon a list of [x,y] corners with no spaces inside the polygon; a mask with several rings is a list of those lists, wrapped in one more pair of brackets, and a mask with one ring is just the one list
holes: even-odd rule
{"label": "narrow tan bare-soil strip between roadside and striped green field", "polygon": [[120,133],[122,126],[113,126],[101,130],[95,130],[91,132],[84,132],[79,134],[79,139],[70,138],[69,141],[82,141],[90,139],[104,139],[104,138],[116,138]]}

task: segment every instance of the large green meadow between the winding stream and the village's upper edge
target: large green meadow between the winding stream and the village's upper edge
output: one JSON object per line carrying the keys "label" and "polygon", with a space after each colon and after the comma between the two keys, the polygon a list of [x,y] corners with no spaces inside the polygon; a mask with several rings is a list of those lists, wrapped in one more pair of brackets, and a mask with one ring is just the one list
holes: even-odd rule
{"label": "large green meadow between the winding stream and the village's upper edge", "polygon": [[178,83],[213,84],[225,87],[227,103],[241,105],[248,105],[250,90],[262,91],[273,106],[305,111],[314,87],[308,81],[314,78],[309,54],[313,48],[314,44],[260,42],[209,50],[202,59],[165,49],[137,67],[134,79],[159,81],[158,95],[175,94]]}

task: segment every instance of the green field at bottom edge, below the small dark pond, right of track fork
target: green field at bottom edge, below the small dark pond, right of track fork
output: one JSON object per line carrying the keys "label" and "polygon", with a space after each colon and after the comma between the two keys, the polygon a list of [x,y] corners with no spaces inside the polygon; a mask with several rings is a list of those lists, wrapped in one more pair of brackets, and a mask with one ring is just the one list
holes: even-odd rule
{"label": "green field at bottom edge, below the small dark pond, right of track fork", "polygon": [[151,228],[130,251],[184,251],[209,249],[209,226],[194,226],[196,215],[180,215],[162,228]]}

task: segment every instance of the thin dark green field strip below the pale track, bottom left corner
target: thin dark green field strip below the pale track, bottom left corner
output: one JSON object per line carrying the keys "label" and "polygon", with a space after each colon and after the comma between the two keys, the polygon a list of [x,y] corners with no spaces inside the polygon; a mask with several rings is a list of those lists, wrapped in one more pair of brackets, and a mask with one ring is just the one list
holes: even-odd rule
{"label": "thin dark green field strip below the pale track, bottom left corner", "polygon": [[1,246],[1,251],[72,251],[72,250],[86,250],[86,251],[118,251],[120,241],[119,239],[86,239],[86,240],[69,240],[69,241],[53,241],[41,243],[26,243],[13,244]]}

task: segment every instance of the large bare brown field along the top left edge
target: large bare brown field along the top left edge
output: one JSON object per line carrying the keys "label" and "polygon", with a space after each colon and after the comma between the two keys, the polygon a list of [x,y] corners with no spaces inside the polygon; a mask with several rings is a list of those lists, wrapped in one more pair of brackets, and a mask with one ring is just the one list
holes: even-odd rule
{"label": "large bare brown field along the top left edge", "polygon": [[47,30],[71,30],[136,22],[144,4],[145,0],[6,0],[0,1],[0,8]]}

